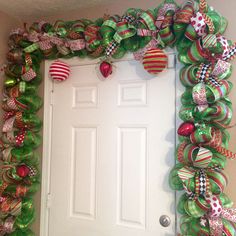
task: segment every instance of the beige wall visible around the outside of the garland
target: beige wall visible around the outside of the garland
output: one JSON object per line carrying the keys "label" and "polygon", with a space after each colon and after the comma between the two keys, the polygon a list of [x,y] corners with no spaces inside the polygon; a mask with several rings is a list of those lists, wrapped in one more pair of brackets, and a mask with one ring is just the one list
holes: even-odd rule
{"label": "beige wall visible around the outside of the garland", "polygon": [[[106,14],[122,14],[127,8],[129,7],[140,7],[142,9],[147,8],[153,8],[158,6],[160,3],[160,0],[148,0],[148,1],[141,1],[141,0],[120,0],[120,1],[114,1],[113,3],[109,5],[100,5],[97,7],[94,7],[92,9],[84,9],[84,10],[74,10],[70,12],[61,12],[57,15],[51,16],[51,17],[45,17],[43,20],[48,20],[51,22],[54,22],[58,19],[64,19],[64,20],[73,20],[73,19],[79,19],[79,18],[98,18],[103,16],[104,13]],[[178,0],[177,2],[182,2]],[[208,0],[209,4],[212,5],[215,9],[218,9],[222,15],[224,15],[230,22],[226,36],[231,38],[232,40],[236,40],[236,30],[234,30],[234,18],[235,18],[235,12],[234,9],[236,9],[236,1],[235,0]],[[35,20],[41,20],[41,19],[21,19],[22,22],[33,22]],[[14,19],[12,17],[9,17],[8,15],[0,12],[0,64],[4,62],[5,54],[7,52],[7,38],[10,30],[12,28],[15,28],[17,24],[19,24],[19,20]],[[234,62],[234,66],[236,68],[236,62]],[[236,72],[234,72],[231,80],[234,82],[234,78],[236,77]],[[2,86],[0,86],[2,88]],[[0,91],[0,94],[2,92]],[[0,95],[1,96],[1,95]],[[236,82],[235,82],[235,88],[231,93],[231,99],[232,101],[236,101]],[[234,120],[232,123],[236,123],[236,102],[234,102]],[[1,112],[1,111],[0,111]],[[1,115],[1,114],[0,114]],[[230,133],[232,135],[232,139],[230,142],[230,149],[234,152],[236,152],[236,128],[232,128],[230,130]],[[229,161],[229,164],[227,166],[226,172],[229,175],[229,185],[226,190],[228,195],[236,202],[236,188],[234,188],[235,184],[235,178],[236,178],[236,161]],[[36,196],[36,205],[39,213],[39,204],[40,204],[40,193]],[[33,229],[35,230],[36,235],[39,235],[39,216],[37,218],[36,223],[33,226]]]}

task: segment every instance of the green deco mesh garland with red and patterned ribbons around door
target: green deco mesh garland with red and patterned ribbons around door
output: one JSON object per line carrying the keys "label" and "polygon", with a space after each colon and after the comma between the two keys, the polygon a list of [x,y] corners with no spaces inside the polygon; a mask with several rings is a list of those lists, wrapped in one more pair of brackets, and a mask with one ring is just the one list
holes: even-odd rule
{"label": "green deco mesh garland with red and patterned ribbons around door", "polygon": [[121,58],[150,44],[176,47],[184,64],[185,86],[179,115],[178,164],[170,173],[173,190],[185,190],[177,210],[181,235],[236,234],[236,209],[223,193],[223,169],[235,155],[227,150],[232,118],[228,94],[236,46],[222,34],[227,20],[203,1],[178,6],[166,0],[155,9],[128,9],[122,17],[96,21],[40,21],[13,30],[5,67],[3,135],[1,138],[0,235],[31,236],[33,195],[40,185],[39,158],[42,106],[37,95],[43,59]]}

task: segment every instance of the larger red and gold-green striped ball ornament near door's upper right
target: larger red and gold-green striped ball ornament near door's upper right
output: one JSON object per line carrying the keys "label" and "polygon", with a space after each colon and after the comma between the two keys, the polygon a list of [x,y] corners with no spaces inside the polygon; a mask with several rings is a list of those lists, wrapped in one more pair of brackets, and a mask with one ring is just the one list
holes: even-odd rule
{"label": "larger red and gold-green striped ball ornament near door's upper right", "polygon": [[163,50],[156,48],[146,51],[143,57],[143,67],[150,74],[162,72],[168,64],[168,57]]}

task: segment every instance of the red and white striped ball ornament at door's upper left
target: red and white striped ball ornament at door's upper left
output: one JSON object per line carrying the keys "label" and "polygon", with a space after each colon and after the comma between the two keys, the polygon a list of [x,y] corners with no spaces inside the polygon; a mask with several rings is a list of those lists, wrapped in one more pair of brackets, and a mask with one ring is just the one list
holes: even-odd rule
{"label": "red and white striped ball ornament at door's upper left", "polygon": [[64,81],[70,76],[70,66],[63,61],[57,60],[51,64],[49,75],[53,80]]}

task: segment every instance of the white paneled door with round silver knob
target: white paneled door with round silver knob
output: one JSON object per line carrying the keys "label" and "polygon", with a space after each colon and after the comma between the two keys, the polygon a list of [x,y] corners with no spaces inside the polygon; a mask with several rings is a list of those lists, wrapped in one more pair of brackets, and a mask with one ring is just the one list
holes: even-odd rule
{"label": "white paneled door with round silver knob", "polygon": [[102,82],[93,61],[67,62],[70,79],[53,85],[48,235],[173,236],[174,66],[152,78],[124,59]]}

